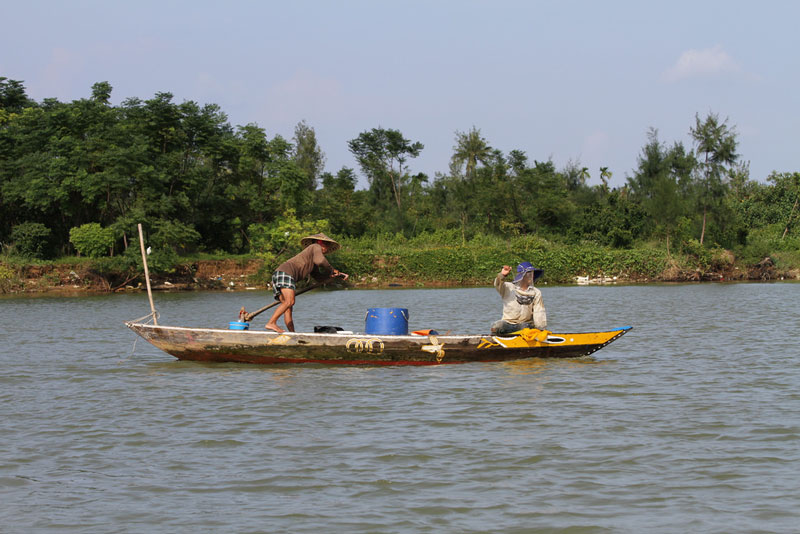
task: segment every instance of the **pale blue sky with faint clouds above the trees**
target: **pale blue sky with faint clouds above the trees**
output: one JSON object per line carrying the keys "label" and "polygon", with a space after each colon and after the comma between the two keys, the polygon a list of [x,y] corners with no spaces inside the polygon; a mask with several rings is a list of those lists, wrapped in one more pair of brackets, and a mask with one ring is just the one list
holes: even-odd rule
{"label": "pale blue sky with faint clouds above the trees", "polygon": [[[0,76],[36,101],[169,92],[271,138],[304,120],[325,170],[396,129],[447,173],[457,131],[621,186],[651,128],[692,147],[695,116],[735,128],[750,177],[800,171],[800,2],[4,0]],[[362,177],[360,185],[366,185]]]}

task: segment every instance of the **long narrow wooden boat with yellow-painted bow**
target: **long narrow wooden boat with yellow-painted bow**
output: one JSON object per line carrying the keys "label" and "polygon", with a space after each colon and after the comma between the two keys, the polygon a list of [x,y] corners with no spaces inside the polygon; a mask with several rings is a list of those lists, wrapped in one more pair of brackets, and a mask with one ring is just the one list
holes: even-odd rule
{"label": "long narrow wooden boat with yellow-painted bow", "polygon": [[179,360],[257,364],[439,365],[592,354],[630,326],[605,332],[554,334],[523,330],[494,335],[311,334],[184,328],[138,322],[125,325]]}

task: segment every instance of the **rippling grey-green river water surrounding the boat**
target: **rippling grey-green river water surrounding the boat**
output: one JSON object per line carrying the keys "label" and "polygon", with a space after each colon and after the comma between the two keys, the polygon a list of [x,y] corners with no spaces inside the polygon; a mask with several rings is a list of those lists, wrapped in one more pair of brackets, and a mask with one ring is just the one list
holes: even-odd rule
{"label": "rippling grey-green river water surrounding the boat", "polygon": [[[178,362],[146,295],[0,298],[0,532],[798,532],[800,284],[543,287],[591,359]],[[156,294],[226,327],[263,291]],[[481,333],[491,288],[312,292],[299,330]],[[263,325],[259,317],[254,326]]]}

